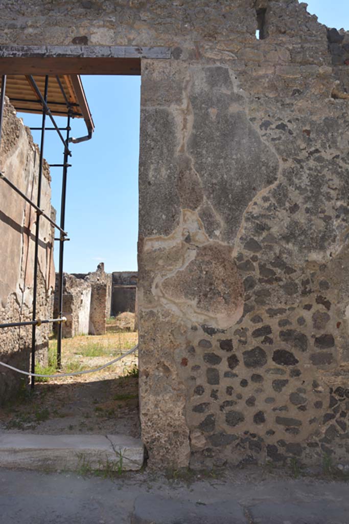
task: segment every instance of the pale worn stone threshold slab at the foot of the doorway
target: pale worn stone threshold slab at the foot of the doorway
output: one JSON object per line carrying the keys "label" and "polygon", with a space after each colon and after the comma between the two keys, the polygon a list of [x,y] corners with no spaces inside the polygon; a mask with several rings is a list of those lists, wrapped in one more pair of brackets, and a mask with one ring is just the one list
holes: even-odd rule
{"label": "pale worn stone threshold slab at the foot of the doorway", "polygon": [[144,447],[127,435],[0,434],[0,467],[39,471],[140,470]]}

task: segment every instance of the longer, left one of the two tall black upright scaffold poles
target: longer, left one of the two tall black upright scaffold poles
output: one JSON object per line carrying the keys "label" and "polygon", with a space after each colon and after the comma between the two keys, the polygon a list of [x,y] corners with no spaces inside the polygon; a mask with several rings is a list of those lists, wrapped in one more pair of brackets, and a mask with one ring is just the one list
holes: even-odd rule
{"label": "longer, left one of the two tall black upright scaffold poles", "polygon": [[[43,163],[43,146],[45,138],[45,123],[46,123],[46,113],[47,113],[47,92],[49,86],[49,77],[45,77],[45,88],[44,95],[40,93],[41,99],[44,101],[42,104],[42,127],[41,127],[41,143],[40,143],[40,158],[39,158],[39,173],[38,173],[38,199],[37,206],[40,208],[41,203],[41,181],[42,181],[42,163]],[[64,228],[62,228],[64,231]],[[36,219],[36,231],[35,231],[35,254],[34,254],[34,280],[33,280],[33,310],[32,310],[32,320],[36,321],[37,315],[37,289],[38,289],[38,255],[39,255],[39,233],[40,233],[40,213],[37,211]],[[36,350],[36,326],[33,324],[31,332],[31,373],[35,373],[35,350]],[[35,377],[31,376],[30,381],[31,389],[34,389]]]}

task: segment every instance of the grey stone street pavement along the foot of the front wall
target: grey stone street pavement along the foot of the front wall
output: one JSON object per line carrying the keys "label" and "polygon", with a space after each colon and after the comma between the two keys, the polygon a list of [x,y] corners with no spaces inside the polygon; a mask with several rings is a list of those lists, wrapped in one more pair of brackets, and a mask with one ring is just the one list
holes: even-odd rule
{"label": "grey stone street pavement along the foot of the front wall", "polygon": [[349,485],[262,468],[179,481],[0,470],[2,524],[348,524]]}

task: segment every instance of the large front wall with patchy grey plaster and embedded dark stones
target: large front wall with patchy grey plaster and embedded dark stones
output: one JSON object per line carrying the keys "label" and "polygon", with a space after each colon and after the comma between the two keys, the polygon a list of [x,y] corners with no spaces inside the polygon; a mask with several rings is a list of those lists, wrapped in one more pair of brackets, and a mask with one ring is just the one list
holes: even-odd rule
{"label": "large front wall with patchy grey plaster and embedded dark stones", "polygon": [[296,0],[5,1],[2,14],[3,44],[172,48],[142,60],[149,465],[347,461],[347,64],[327,28]]}

